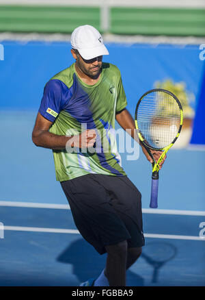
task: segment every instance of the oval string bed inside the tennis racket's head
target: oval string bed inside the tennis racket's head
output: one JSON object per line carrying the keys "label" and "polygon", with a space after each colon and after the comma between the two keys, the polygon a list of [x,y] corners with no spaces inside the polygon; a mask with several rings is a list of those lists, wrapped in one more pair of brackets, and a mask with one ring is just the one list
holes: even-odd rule
{"label": "oval string bed inside the tennis racket's head", "polygon": [[150,147],[172,143],[180,127],[180,108],[172,95],[154,91],[141,99],[137,110],[139,132]]}

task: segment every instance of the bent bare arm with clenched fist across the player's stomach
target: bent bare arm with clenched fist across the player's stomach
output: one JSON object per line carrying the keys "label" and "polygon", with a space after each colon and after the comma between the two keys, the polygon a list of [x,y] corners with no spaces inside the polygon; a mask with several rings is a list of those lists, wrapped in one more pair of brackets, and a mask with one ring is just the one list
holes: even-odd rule
{"label": "bent bare arm with clenched fist across the player's stomach", "polygon": [[85,130],[85,132],[77,136],[58,136],[57,134],[52,134],[49,132],[52,123],[38,112],[32,132],[32,140],[36,146],[53,150],[66,149],[66,146],[88,148],[92,147],[96,141],[96,134],[92,129]]}

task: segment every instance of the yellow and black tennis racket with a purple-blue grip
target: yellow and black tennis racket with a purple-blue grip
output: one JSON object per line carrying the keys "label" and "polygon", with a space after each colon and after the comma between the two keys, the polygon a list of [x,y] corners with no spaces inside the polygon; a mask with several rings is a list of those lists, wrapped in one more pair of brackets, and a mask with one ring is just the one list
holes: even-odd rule
{"label": "yellow and black tennis racket with a purple-blue grip", "polygon": [[[135,127],[139,141],[152,158],[152,189],[150,208],[157,208],[159,164],[176,142],[182,128],[182,105],[177,97],[161,88],[141,96],[135,110]],[[150,151],[163,151],[156,162]]]}

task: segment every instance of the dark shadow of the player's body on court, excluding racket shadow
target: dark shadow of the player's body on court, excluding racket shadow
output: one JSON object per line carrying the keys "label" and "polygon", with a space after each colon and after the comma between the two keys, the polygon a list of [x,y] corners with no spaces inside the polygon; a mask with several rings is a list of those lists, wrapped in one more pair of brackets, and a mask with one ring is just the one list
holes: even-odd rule
{"label": "dark shadow of the player's body on court, excluding racket shadow", "polygon": [[[105,268],[106,258],[107,254],[98,254],[90,244],[80,238],[60,253],[57,261],[71,264],[72,273],[80,283],[90,278],[97,278]],[[143,278],[128,270],[127,286],[143,286]]]}

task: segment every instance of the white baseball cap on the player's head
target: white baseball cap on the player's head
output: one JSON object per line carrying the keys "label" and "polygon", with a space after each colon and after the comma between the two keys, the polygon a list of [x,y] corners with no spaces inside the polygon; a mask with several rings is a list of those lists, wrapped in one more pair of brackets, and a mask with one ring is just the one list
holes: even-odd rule
{"label": "white baseball cap on the player's head", "polygon": [[74,29],[71,35],[71,46],[73,49],[77,49],[85,60],[109,54],[100,32],[90,25]]}

